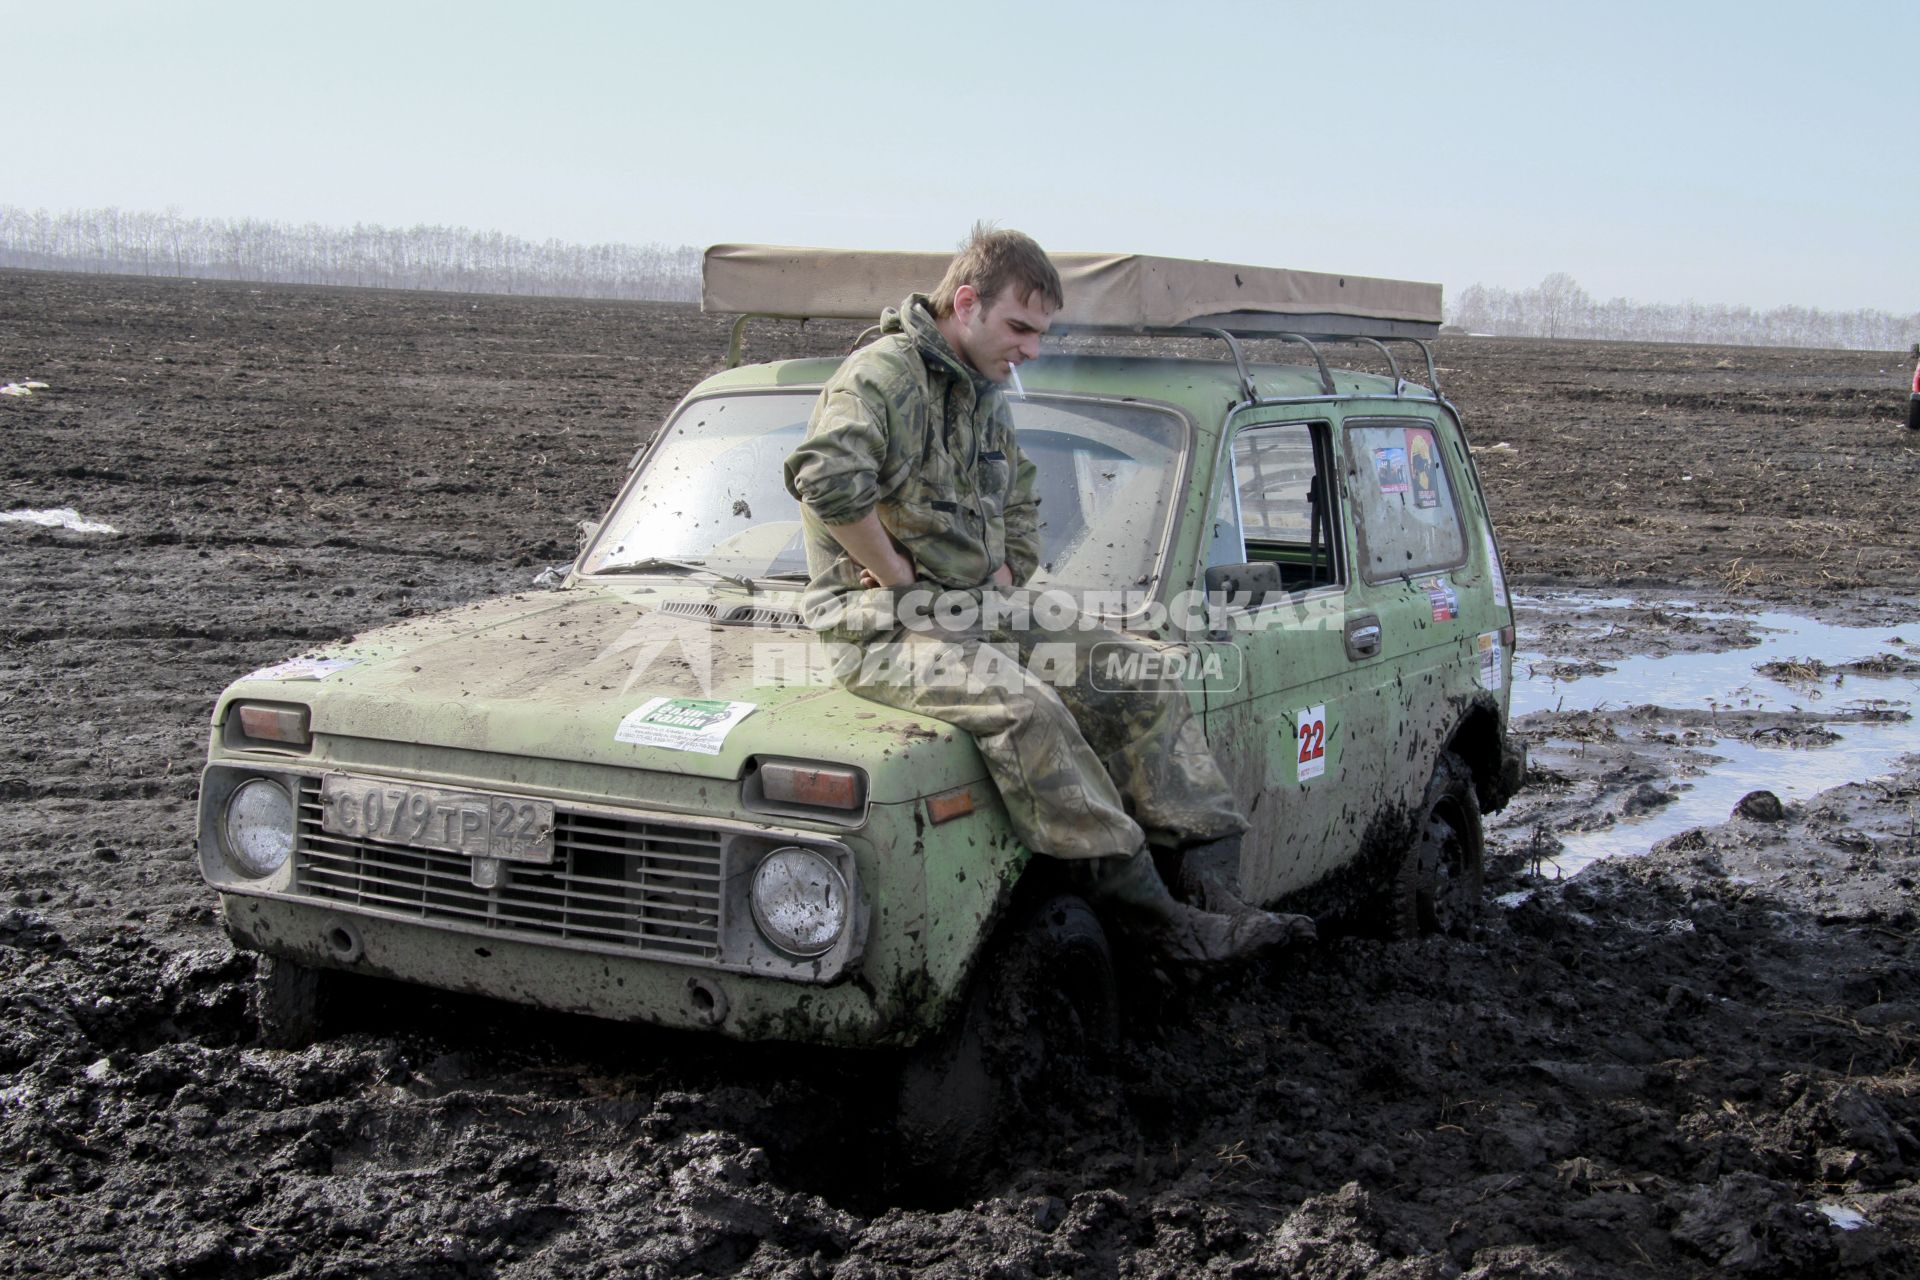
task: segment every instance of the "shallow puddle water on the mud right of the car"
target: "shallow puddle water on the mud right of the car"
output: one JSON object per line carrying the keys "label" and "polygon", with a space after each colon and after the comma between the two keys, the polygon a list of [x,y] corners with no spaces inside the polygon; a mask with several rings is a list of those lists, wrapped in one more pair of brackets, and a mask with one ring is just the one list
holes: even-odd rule
{"label": "shallow puddle water on the mud right of the car", "polygon": [[[1636,601],[1555,595],[1528,601],[1534,608],[1565,618],[1599,608],[1620,608]],[[1910,710],[1920,702],[1920,679],[1912,676],[1872,676],[1847,672],[1837,683],[1830,674],[1814,681],[1782,681],[1759,674],[1768,662],[1818,658],[1828,666],[1893,652],[1912,656],[1920,643],[1920,618],[1901,626],[1847,628],[1782,612],[1711,614],[1690,604],[1663,601],[1665,612],[1699,618],[1749,618],[1761,643],[1726,652],[1686,652],[1663,658],[1636,656],[1607,660],[1615,668],[1603,676],[1565,679],[1549,654],[1515,654],[1513,718],[1540,710],[1620,710],[1655,704],[1680,710],[1799,710],[1820,716],[1862,706]],[[1524,626],[1521,637],[1524,639]],[[1676,798],[1645,816],[1620,819],[1603,831],[1561,833],[1563,850],[1553,858],[1561,875],[1572,875],[1599,858],[1644,854],[1692,827],[1726,821],[1740,796],[1766,789],[1786,802],[1807,800],[1830,787],[1864,781],[1893,770],[1895,760],[1920,752],[1920,722],[1822,720],[1839,735],[1826,747],[1755,745],[1743,737],[1718,737],[1699,748],[1718,756],[1707,773],[1674,779]],[[1697,725],[1695,725],[1697,729]],[[1542,760],[1561,750],[1553,745]]]}

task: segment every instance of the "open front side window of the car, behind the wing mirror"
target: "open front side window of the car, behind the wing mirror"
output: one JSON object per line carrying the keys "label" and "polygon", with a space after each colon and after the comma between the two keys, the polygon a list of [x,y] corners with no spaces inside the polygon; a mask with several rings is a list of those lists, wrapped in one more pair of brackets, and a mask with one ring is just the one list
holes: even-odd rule
{"label": "open front side window of the car, behind the wing mirror", "polygon": [[1277,564],[1286,591],[1338,583],[1325,424],[1242,428],[1229,457],[1233,480],[1221,486],[1210,562]]}

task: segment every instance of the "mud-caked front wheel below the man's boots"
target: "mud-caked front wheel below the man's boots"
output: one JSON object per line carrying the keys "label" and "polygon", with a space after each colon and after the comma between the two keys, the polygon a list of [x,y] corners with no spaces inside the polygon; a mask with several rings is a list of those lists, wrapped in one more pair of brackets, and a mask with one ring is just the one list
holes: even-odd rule
{"label": "mud-caked front wheel below the man's boots", "polygon": [[1119,1042],[1114,952],[1092,908],[1056,894],[1016,913],[948,1027],[900,1071],[899,1163],[968,1180],[1048,1086]]}

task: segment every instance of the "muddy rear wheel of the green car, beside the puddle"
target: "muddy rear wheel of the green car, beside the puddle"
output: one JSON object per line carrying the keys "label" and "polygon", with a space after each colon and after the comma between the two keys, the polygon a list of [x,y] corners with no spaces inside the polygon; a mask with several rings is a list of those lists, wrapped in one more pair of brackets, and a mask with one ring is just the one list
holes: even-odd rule
{"label": "muddy rear wheel of the green car, beside the puddle", "polygon": [[1442,752],[1415,814],[1413,844],[1384,894],[1382,931],[1392,938],[1465,935],[1480,913],[1484,856],[1473,770]]}

